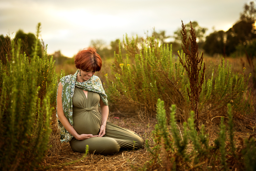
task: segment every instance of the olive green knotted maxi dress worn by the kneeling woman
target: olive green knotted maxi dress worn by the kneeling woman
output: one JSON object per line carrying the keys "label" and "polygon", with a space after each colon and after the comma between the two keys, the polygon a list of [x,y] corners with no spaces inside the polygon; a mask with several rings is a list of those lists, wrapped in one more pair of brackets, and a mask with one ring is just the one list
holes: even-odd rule
{"label": "olive green knotted maxi dress worn by the kneeling woman", "polygon": [[[98,135],[101,126],[101,114],[98,111],[99,94],[88,91],[86,98],[84,91],[75,87],[72,100],[73,127],[76,132]],[[144,141],[137,133],[107,122],[103,137],[93,137],[81,141],[73,138],[69,143],[74,152],[84,153],[85,147],[88,145],[89,152],[113,155],[120,149],[141,148]]]}

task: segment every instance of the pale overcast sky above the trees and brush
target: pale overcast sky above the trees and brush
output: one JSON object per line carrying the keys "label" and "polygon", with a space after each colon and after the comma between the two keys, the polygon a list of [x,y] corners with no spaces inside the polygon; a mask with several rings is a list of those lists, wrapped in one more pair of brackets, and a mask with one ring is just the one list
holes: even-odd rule
{"label": "pale overcast sky above the trees and brush", "polygon": [[251,0],[0,0],[0,34],[22,29],[35,33],[42,24],[48,54],[60,50],[72,57],[91,40],[109,44],[116,39],[166,30],[167,35],[197,21],[208,28],[228,30]]}

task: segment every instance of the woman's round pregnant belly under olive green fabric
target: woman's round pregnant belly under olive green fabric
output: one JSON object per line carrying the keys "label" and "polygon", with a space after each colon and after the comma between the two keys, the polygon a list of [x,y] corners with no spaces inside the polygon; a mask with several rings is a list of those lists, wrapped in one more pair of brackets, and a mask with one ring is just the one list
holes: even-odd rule
{"label": "woman's round pregnant belly under olive green fabric", "polygon": [[101,115],[98,111],[84,111],[73,116],[73,127],[78,134],[98,135]]}

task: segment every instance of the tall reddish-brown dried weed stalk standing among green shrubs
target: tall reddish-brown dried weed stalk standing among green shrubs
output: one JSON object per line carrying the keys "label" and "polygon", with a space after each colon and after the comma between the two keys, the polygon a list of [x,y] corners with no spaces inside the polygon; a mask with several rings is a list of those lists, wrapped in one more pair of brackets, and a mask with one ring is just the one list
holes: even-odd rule
{"label": "tall reddish-brown dried weed stalk standing among green shrubs", "polygon": [[[180,62],[182,66],[185,68],[188,74],[189,79],[189,86],[190,90],[187,88],[187,94],[189,97],[189,100],[191,102],[191,108],[195,112],[195,124],[196,124],[196,130],[199,131],[199,111],[198,111],[198,103],[199,103],[199,95],[202,91],[202,84],[204,82],[204,72],[205,72],[205,63],[203,62],[203,53],[201,57],[198,57],[198,44],[197,44],[197,38],[196,38],[196,31],[192,27],[192,23],[190,21],[190,34],[191,37],[188,37],[187,40],[187,29],[186,26],[182,22],[182,31],[181,34],[183,36],[182,43],[182,49],[185,53],[185,61],[182,60],[180,54],[178,53],[178,56],[180,58]],[[190,50],[189,50],[190,45]],[[203,64],[203,71],[201,72],[200,82],[199,82],[199,75],[200,71],[202,69]]]}

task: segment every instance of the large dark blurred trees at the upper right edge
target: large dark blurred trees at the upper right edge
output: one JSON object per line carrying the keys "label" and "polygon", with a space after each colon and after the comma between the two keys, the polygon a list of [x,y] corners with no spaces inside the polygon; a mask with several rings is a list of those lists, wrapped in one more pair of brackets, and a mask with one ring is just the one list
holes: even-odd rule
{"label": "large dark blurred trees at the upper right edge", "polygon": [[256,55],[256,6],[252,1],[244,5],[240,19],[228,31],[214,31],[205,39],[203,49],[209,55],[223,54],[230,56],[248,54]]}

